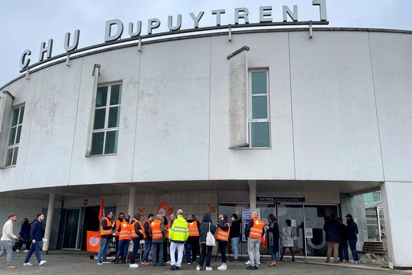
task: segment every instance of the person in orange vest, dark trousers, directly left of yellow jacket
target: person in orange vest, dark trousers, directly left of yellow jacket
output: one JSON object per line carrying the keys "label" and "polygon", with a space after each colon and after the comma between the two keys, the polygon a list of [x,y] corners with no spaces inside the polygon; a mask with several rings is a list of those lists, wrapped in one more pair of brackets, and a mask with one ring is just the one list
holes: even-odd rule
{"label": "person in orange vest, dark trousers, directly left of yellow jacket", "polygon": [[[152,234],[153,266],[164,266],[163,242],[165,241],[165,225],[163,225],[161,214],[157,214],[156,219],[150,223],[149,233]],[[157,250],[159,250],[159,264],[157,263]]]}

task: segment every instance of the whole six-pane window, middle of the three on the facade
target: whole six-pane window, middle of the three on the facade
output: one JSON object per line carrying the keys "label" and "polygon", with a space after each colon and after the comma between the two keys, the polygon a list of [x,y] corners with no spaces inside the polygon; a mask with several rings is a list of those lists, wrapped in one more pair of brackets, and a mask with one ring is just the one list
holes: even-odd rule
{"label": "whole six-pane window, middle of the three on the facade", "polygon": [[121,83],[98,87],[91,135],[91,155],[117,153],[121,98]]}

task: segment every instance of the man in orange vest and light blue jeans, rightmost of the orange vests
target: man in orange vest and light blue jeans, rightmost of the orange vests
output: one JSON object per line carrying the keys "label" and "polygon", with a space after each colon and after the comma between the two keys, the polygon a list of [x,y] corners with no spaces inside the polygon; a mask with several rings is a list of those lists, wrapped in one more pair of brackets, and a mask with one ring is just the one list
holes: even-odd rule
{"label": "man in orange vest and light blue jeans, rightmost of the orange vests", "polygon": [[[249,254],[249,261],[251,264],[247,267],[247,270],[258,270],[260,261],[260,242],[264,235],[264,222],[259,219],[258,211],[252,211],[252,219],[249,219],[244,228],[244,235],[247,238],[247,253]],[[255,256],[253,256],[253,253]]]}

